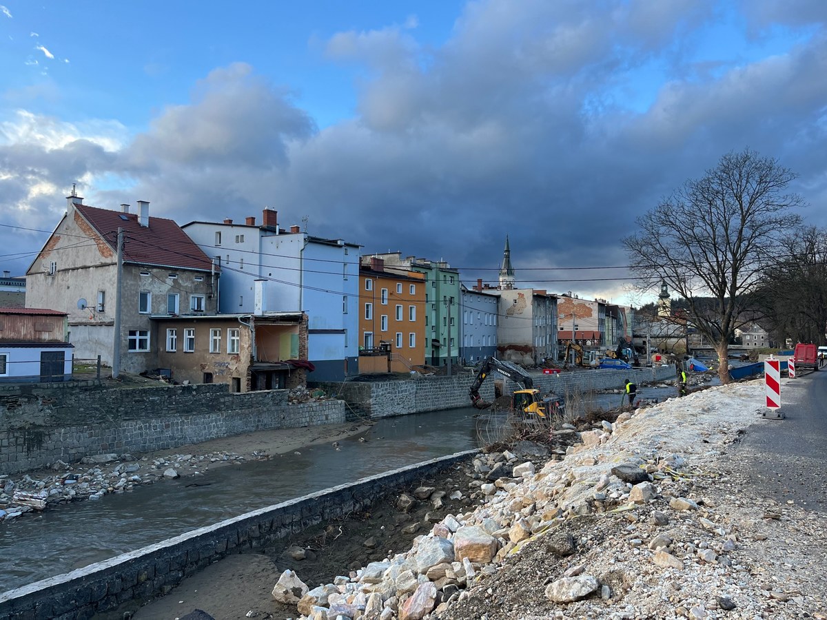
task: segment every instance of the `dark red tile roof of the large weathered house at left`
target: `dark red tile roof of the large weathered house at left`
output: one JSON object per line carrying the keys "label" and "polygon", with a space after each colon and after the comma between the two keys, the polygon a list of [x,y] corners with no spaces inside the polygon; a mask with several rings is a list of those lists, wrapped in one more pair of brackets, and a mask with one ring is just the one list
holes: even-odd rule
{"label": "dark red tile roof of the large weathered house at left", "polygon": [[[136,213],[74,206],[103,236],[112,250],[117,248],[117,229],[123,228],[123,260],[126,263],[209,271],[212,261],[178,224],[165,217],[150,217],[149,226],[138,223]],[[216,266],[218,270],[218,266]]]}

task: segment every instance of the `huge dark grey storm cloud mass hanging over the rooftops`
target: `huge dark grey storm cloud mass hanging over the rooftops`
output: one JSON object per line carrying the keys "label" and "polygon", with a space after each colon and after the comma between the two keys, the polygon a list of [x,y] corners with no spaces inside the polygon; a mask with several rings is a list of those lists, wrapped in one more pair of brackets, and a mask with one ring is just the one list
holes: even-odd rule
{"label": "huge dark grey storm cloud mass hanging over the rooftops", "polygon": [[[762,28],[782,18],[774,6],[744,10]],[[98,192],[101,206],[146,199],[181,223],[270,206],[283,226],[307,217],[313,234],[448,260],[471,281],[495,279],[509,234],[519,279],[610,297],[622,283],[552,282],[592,273],[529,269],[623,265],[619,239],[634,218],[729,150],[780,157],[810,202],[824,203],[819,6],[798,2],[783,17],[809,33],[786,54],[696,64],[710,3],[471,2],[438,48],[399,28],[332,36],[332,62],[365,68],[346,122],[318,130],[289,91],[235,64],[116,154],[89,149],[86,169],[135,182]],[[634,72],[649,66],[671,77],[638,93]],[[63,184],[84,172],[81,149],[45,164],[35,151],[20,165]]]}

